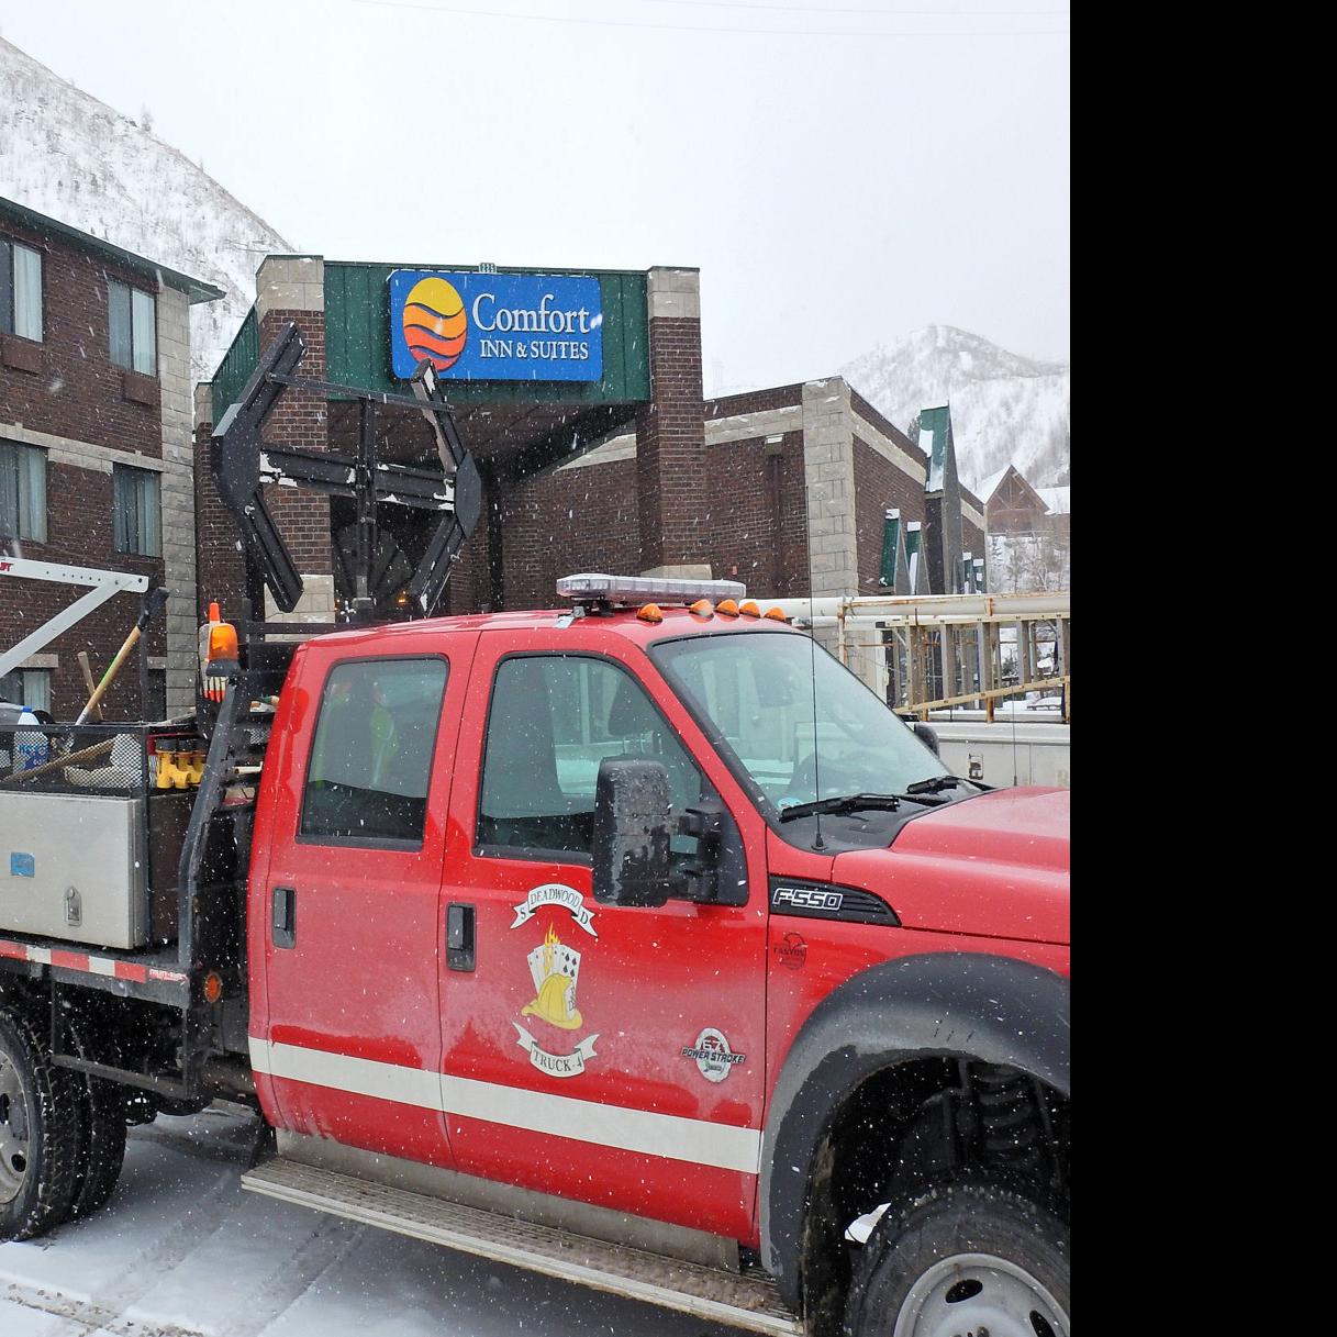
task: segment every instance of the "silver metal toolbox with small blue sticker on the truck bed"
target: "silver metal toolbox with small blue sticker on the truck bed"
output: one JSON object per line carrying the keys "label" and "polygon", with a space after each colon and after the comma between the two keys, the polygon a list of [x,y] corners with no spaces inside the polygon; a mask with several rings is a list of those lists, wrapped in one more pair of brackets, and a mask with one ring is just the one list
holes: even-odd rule
{"label": "silver metal toolbox with small blue sticker on the truck bed", "polygon": [[7,793],[0,929],[134,948],[148,941],[143,797]]}

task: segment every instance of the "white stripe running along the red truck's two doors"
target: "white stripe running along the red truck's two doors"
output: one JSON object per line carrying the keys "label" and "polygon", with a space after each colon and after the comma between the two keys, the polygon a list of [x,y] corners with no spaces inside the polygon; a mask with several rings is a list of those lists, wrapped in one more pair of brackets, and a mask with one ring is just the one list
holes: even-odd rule
{"label": "white stripe running along the red truck's two doors", "polygon": [[277,1044],[255,1036],[250,1038],[250,1055],[257,1072],[289,1082],[741,1174],[757,1174],[761,1165],[759,1128],[627,1110],[619,1104]]}

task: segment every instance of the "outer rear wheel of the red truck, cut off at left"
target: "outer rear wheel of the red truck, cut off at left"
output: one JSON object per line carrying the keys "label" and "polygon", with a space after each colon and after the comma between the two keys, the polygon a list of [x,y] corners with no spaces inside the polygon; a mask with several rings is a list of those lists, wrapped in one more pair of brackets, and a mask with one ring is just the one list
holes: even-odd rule
{"label": "outer rear wheel of the red truck, cut off at left", "polygon": [[27,1019],[0,1008],[0,1241],[32,1239],[70,1215],[79,1098]]}

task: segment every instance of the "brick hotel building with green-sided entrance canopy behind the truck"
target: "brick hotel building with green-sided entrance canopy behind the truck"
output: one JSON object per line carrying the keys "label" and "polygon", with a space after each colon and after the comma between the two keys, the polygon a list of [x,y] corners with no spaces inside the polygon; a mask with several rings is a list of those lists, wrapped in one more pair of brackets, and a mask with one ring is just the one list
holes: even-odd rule
{"label": "brick hotel building with green-sided entrance canopy behind the truck", "polygon": [[[439,289],[441,305],[459,308],[433,308],[432,330],[410,336],[417,326],[404,324],[408,316],[401,322],[400,312],[421,309],[408,298],[439,278],[449,281]],[[706,400],[695,270],[582,271],[582,282],[598,283],[598,321],[588,324],[600,330],[602,346],[598,366],[580,378],[543,380],[513,364],[496,377],[484,368],[468,380],[451,378],[457,345],[476,344],[477,356],[491,356],[501,342],[507,313],[493,287],[528,285],[539,294],[571,278],[266,258],[255,306],[213,384],[197,389],[199,562],[210,572],[201,608],[246,587],[235,528],[210,477],[211,427],[289,321],[308,345],[298,376],[373,392],[406,392],[413,358],[401,342],[421,337],[440,350],[444,388],[485,485],[484,520],[441,611],[551,606],[558,575],[590,570],[737,576],[775,598],[810,587],[817,595],[885,594],[893,516],[901,536],[923,529],[925,547],[940,554],[936,579],[949,591],[961,587],[961,551],[983,554],[984,515],[956,480],[949,428],[936,455],[921,449],[840,378]],[[547,314],[537,305],[517,310],[516,328],[541,329]],[[567,313],[568,330],[583,314]],[[508,352],[509,345],[499,361]],[[271,441],[352,452],[356,405],[287,393],[269,424]],[[436,459],[418,416],[378,421],[382,459]],[[936,491],[929,488],[935,460]],[[345,541],[350,504],[283,488],[270,488],[267,503],[303,575],[298,612],[328,619],[348,595],[334,550]],[[412,563],[427,520],[388,505],[378,519]],[[925,575],[920,590],[933,587],[943,586]],[[250,588],[258,599],[254,583]]]}

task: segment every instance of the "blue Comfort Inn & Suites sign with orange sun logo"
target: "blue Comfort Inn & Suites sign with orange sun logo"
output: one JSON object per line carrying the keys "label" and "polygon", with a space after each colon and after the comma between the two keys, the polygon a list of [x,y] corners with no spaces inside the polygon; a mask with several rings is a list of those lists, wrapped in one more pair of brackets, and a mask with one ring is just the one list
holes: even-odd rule
{"label": "blue Comfort Inn & Suites sign with orange sun logo", "polygon": [[596,278],[564,274],[390,274],[390,366],[425,357],[452,381],[598,381],[603,306]]}

